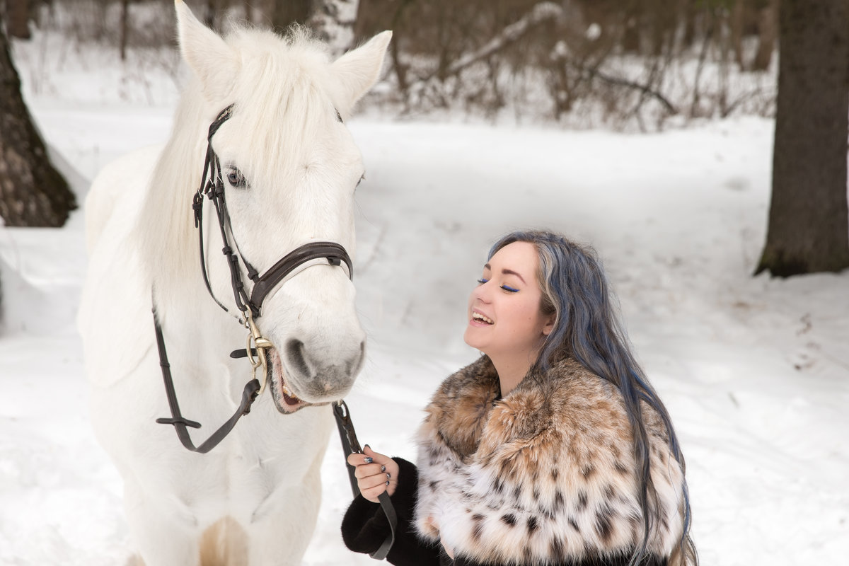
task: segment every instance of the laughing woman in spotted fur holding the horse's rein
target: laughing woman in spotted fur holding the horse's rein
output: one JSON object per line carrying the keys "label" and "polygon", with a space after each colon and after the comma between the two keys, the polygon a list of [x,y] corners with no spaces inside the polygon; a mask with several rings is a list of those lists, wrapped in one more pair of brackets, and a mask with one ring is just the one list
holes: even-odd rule
{"label": "laughing woman in spotted fur holding the horse's rein", "polygon": [[467,344],[419,429],[418,468],[351,454],[362,495],[342,523],[355,552],[389,533],[398,566],[697,563],[684,460],[628,349],[591,249],[517,232],[469,297]]}

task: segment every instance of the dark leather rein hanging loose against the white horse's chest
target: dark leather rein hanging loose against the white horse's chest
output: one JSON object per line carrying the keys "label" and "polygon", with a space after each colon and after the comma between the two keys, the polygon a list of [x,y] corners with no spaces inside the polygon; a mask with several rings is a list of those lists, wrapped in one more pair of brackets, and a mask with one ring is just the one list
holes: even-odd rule
{"label": "dark leather rein hanging loose against the white horse's chest", "polygon": [[172,424],[177,430],[177,438],[183,443],[188,450],[205,454],[224,440],[242,415],[250,412],[250,405],[256,399],[256,395],[260,390],[260,382],[258,379],[251,379],[245,384],[245,389],[242,391],[242,402],[239,403],[239,408],[233,413],[226,423],[223,423],[212,435],[204,441],[200,446],[194,446],[192,438],[188,435],[187,427],[200,429],[200,423],[190,421],[183,417],[180,412],[180,406],[177,403],[177,392],[174,390],[174,380],[171,378],[171,364],[168,363],[168,354],[165,348],[165,339],[162,337],[162,327],[156,317],[154,309],[154,328],[156,331],[156,347],[159,349],[160,367],[162,368],[162,379],[165,381],[165,391],[168,397],[168,406],[171,408],[171,418],[157,418],[156,422],[160,424]]}

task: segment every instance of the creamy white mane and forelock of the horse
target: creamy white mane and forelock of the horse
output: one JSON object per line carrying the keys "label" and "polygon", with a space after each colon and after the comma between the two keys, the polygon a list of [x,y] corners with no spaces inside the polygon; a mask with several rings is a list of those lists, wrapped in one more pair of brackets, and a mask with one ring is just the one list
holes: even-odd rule
{"label": "creamy white mane and forelock of the horse", "polygon": [[[225,124],[230,126],[226,134],[222,126],[216,139],[224,134],[222,139],[250,143],[239,168],[257,187],[266,188],[297,181],[315,141],[320,142],[317,132],[326,129],[327,120],[335,120],[328,49],[306,28],[293,26],[286,36],[278,36],[243,25],[224,39],[239,60],[231,92],[226,100],[205,98],[193,72],[140,211],[140,252],[157,289],[171,287],[171,282],[183,288],[193,281],[203,284],[191,204],[200,186],[208,128],[222,109],[235,104],[238,120]],[[224,166],[226,158],[221,157]],[[214,214],[206,203],[204,215]],[[218,241],[217,233],[205,233],[204,238]],[[216,255],[211,252],[210,258]]]}

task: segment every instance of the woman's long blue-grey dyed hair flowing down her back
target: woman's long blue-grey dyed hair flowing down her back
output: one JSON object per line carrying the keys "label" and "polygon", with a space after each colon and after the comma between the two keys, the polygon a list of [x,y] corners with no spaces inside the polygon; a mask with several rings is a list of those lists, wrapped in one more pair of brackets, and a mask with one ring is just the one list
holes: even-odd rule
{"label": "woman's long blue-grey dyed hair flowing down her back", "polygon": [[[649,439],[640,402],[645,401],[661,417],[668,433],[669,448],[683,471],[684,457],[669,413],[631,352],[595,250],[571,242],[558,233],[531,230],[509,233],[499,239],[490,249],[489,259],[499,249],[514,242],[527,242],[537,248],[537,283],[543,292],[540,310],[544,315],[554,315],[554,328],[543,343],[534,369],[546,372],[558,361],[571,357],[616,385],[625,401],[633,430],[644,527],[643,541],[634,549],[629,566],[642,563],[647,553],[651,525],[659,521],[659,517],[652,516],[651,509],[654,508],[657,513],[660,506],[657,505],[657,492],[651,479]],[[671,566],[698,564],[695,546],[689,536],[690,505],[686,479],[682,495],[683,535],[677,551],[673,552]],[[649,501],[653,504],[649,505]]]}

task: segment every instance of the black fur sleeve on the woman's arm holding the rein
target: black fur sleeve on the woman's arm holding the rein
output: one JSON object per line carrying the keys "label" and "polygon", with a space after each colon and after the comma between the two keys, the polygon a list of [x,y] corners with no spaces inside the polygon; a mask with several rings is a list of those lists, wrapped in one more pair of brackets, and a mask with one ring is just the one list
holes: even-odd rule
{"label": "black fur sleeve on the woman's arm holding the rein", "polygon": [[[398,515],[395,543],[386,557],[395,566],[436,566],[439,564],[440,547],[420,541],[413,528],[413,511],[416,507],[416,491],[419,486],[419,470],[402,459],[398,463],[398,487],[391,496],[392,505]],[[389,522],[379,503],[372,503],[357,496],[342,519],[342,540],[353,552],[374,552],[389,535]]]}

